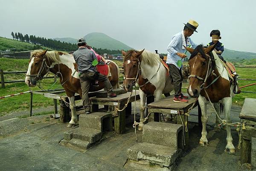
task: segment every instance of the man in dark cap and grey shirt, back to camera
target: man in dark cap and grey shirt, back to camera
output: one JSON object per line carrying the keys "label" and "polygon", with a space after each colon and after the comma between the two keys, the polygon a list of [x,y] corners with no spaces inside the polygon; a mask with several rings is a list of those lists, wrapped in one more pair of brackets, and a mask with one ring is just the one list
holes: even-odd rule
{"label": "man in dark cap and grey shirt, back to camera", "polygon": [[80,38],[77,45],[79,46],[79,48],[73,53],[73,56],[79,71],[83,107],[85,110],[85,114],[89,114],[90,105],[88,93],[90,83],[92,81],[99,80],[103,82],[104,86],[107,89],[108,98],[116,97],[116,94],[113,93],[113,87],[110,84],[107,76],[97,73],[96,67],[95,65],[93,65],[93,63],[95,63],[93,61],[97,61],[96,55],[92,50],[89,50],[86,47],[86,41],[84,40],[84,38]]}

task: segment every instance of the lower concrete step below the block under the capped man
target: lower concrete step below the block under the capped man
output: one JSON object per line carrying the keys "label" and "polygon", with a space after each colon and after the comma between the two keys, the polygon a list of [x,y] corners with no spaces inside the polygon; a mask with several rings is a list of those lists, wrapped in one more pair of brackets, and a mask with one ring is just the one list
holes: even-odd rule
{"label": "lower concrete step below the block under the capped man", "polygon": [[64,133],[64,139],[70,141],[71,139],[80,139],[84,141],[88,141],[90,144],[98,141],[102,137],[102,132],[96,129],[81,129],[75,128],[72,130],[68,130]]}

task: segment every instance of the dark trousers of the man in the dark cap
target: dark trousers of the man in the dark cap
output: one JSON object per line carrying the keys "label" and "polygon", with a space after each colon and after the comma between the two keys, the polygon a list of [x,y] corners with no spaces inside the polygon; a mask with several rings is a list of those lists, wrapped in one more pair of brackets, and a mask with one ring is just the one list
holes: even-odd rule
{"label": "dark trousers of the man in the dark cap", "polygon": [[83,106],[86,112],[90,112],[88,93],[89,93],[89,88],[92,81],[95,81],[95,80],[102,81],[104,84],[104,87],[106,87],[107,89],[108,95],[111,95],[112,93],[113,87],[110,84],[110,81],[108,80],[106,75],[99,74],[99,77],[95,78],[95,72],[85,71],[81,73],[79,78],[80,78],[80,84],[82,89]]}

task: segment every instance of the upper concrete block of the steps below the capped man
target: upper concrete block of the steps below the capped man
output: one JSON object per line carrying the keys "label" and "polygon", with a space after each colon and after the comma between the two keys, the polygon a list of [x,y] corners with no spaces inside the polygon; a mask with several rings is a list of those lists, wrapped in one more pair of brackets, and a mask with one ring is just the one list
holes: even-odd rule
{"label": "upper concrete block of the steps below the capped man", "polygon": [[79,128],[96,129],[96,130],[112,130],[111,113],[93,112],[90,114],[79,115]]}

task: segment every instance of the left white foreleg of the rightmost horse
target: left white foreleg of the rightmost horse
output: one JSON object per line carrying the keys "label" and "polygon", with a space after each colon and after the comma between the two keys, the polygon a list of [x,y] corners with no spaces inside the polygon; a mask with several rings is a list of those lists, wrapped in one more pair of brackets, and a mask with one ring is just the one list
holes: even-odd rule
{"label": "left white foreleg of the rightmost horse", "polygon": [[207,124],[207,119],[208,119],[207,103],[206,103],[206,99],[202,96],[199,96],[198,102],[200,104],[201,111],[202,111],[201,120],[202,120],[202,125],[203,125],[202,133],[201,133],[202,136],[201,136],[201,139],[199,141],[199,145],[207,147],[207,145],[208,145],[208,140],[207,140],[207,137],[206,137],[207,136],[206,124]]}

